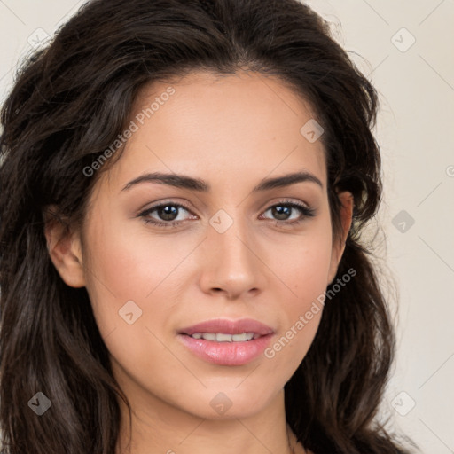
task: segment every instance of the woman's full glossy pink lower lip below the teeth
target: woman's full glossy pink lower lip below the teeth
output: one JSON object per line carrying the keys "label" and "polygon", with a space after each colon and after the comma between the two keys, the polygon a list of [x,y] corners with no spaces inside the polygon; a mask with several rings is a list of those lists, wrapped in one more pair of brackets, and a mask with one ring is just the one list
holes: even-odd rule
{"label": "woman's full glossy pink lower lip below the teeth", "polygon": [[194,339],[187,334],[179,334],[178,338],[195,356],[212,364],[243,365],[261,356],[270,344],[273,334],[244,342],[217,342],[215,340]]}

